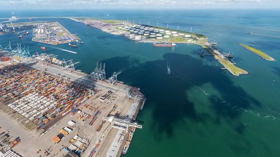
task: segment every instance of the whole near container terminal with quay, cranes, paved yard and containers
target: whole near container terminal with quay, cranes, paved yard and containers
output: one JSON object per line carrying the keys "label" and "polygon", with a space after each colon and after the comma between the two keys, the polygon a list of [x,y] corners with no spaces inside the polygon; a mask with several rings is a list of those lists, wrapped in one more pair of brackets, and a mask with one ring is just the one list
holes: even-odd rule
{"label": "whole near container terminal with quay, cranes, paved yard and containers", "polygon": [[[127,152],[146,98],[140,89],[92,73],[73,60],[0,46],[0,139],[2,154],[119,157]],[[125,150],[125,151],[123,151]]]}

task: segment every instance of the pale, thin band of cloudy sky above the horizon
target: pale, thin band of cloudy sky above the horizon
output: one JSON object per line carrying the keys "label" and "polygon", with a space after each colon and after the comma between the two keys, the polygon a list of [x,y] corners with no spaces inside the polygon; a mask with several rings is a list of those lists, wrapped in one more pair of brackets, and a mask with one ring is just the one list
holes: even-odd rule
{"label": "pale, thin band of cloudy sky above the horizon", "polygon": [[280,0],[0,0],[4,9],[280,8]]}

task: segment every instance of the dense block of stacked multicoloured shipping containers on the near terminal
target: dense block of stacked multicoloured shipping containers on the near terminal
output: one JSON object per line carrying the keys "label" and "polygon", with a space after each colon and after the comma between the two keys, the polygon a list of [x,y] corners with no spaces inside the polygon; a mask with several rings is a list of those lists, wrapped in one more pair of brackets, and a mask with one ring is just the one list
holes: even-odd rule
{"label": "dense block of stacked multicoloured shipping containers on the near terminal", "polygon": [[6,66],[0,74],[0,109],[31,130],[64,116],[94,94],[85,86],[24,65]]}

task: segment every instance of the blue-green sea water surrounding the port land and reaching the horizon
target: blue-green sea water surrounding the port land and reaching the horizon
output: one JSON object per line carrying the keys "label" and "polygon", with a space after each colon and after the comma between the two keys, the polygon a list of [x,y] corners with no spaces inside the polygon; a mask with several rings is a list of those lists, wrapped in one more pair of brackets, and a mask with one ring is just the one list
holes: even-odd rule
{"label": "blue-green sea water surrounding the port land and reaching the horizon", "polygon": [[[264,14],[266,13],[266,14]],[[280,156],[280,38],[249,35],[249,32],[280,36],[279,11],[193,10],[193,11],[57,11],[19,12],[18,16],[92,16],[100,19],[134,19],[155,25],[207,35],[217,40],[222,51],[231,51],[234,62],[249,75],[231,75],[212,57],[200,58],[196,45],[152,47],[122,36],[112,35],[64,18],[34,19],[58,21],[77,34],[83,45],[68,53],[18,39],[17,34],[0,36],[5,46],[10,41],[29,45],[32,52],[57,54],[73,59],[77,69],[90,73],[96,62],[106,63],[107,78],[122,71],[118,79],[140,87],[147,101],[137,120],[137,129],[123,157],[279,157]],[[109,16],[106,16],[109,14]],[[9,16],[3,12],[1,15]],[[22,22],[28,19],[21,19]],[[274,62],[238,46],[256,47]],[[167,62],[171,74],[167,74]]]}

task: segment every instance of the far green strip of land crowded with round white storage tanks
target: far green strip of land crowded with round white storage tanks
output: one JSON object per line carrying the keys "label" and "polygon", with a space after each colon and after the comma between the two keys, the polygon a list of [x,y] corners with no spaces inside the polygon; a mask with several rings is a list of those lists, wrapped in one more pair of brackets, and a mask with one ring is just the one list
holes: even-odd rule
{"label": "far green strip of land crowded with round white storage tanks", "polygon": [[[196,38],[193,37],[193,33],[186,33],[184,31],[179,31],[179,26],[177,30],[172,30],[157,26],[150,26],[150,24],[136,24],[135,21],[112,21],[105,20],[81,20],[80,22],[98,28],[100,30],[110,32],[113,34],[123,35],[126,38],[139,42],[176,42],[176,43],[197,43]],[[112,24],[110,24],[112,23]],[[141,22],[140,22],[141,23]],[[150,23],[150,22],[149,22]],[[206,37],[202,37],[206,39]]]}

